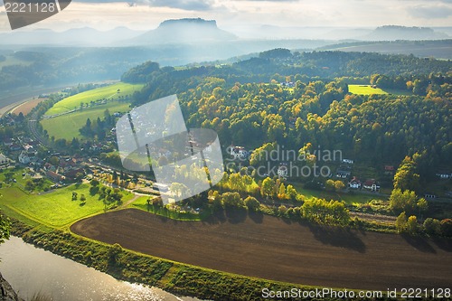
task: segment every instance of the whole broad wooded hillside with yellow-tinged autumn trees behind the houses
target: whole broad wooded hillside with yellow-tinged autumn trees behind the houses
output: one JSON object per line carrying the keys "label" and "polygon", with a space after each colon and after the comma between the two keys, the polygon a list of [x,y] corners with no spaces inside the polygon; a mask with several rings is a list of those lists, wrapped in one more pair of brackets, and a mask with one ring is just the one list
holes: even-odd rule
{"label": "whole broad wooded hillside with yellow-tinged autumn trees behind the houses", "polygon": [[[376,170],[418,153],[419,173],[431,179],[439,167],[452,166],[451,64],[276,50],[232,65],[180,71],[147,62],[123,80],[147,82],[135,105],[177,93],[188,127],[213,128],[225,146],[254,149],[277,142],[298,150],[310,144],[342,150]],[[280,84],[286,81],[294,86]],[[348,93],[347,83],[370,81],[406,95]]]}

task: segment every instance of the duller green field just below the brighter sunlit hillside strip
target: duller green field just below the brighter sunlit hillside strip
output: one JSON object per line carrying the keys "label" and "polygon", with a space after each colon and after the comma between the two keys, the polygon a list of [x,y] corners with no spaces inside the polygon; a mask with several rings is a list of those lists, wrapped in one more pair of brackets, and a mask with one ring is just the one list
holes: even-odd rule
{"label": "duller green field just below the brighter sunlit hillside strip", "polygon": [[56,118],[42,119],[41,124],[47,130],[49,136],[58,138],[65,138],[71,140],[73,137],[80,137],[79,129],[86,124],[87,118],[96,120],[104,118],[104,111],[113,112],[127,112],[130,110],[129,104],[119,101],[110,101],[105,105],[96,106],[94,108],[84,108],[67,115],[61,115]]}

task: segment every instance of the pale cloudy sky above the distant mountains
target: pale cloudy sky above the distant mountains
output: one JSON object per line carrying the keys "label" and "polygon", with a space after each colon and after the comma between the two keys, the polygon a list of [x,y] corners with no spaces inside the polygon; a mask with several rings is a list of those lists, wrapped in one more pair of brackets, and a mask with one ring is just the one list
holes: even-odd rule
{"label": "pale cloudy sky above the distant mountains", "polygon": [[[10,30],[0,0],[0,30]],[[33,28],[91,26],[153,29],[165,19],[215,19],[223,29],[243,25],[375,27],[452,26],[452,0],[72,0],[61,14]]]}

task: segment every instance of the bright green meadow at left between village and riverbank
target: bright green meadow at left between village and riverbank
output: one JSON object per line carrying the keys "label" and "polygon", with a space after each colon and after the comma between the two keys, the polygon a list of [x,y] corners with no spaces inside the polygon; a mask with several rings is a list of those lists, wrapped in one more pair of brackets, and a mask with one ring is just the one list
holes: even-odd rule
{"label": "bright green meadow at left between village and riverbank", "polygon": [[[71,200],[72,192],[78,193],[78,201]],[[89,194],[88,184],[74,184],[40,195],[25,193],[19,186],[13,185],[0,189],[0,193],[0,207],[8,215],[19,220],[19,215],[23,215],[28,220],[50,227],[69,225],[83,217],[103,212],[105,207],[99,195]],[[133,197],[131,193],[123,193],[124,202]],[[86,196],[85,204],[80,202],[81,194]]]}

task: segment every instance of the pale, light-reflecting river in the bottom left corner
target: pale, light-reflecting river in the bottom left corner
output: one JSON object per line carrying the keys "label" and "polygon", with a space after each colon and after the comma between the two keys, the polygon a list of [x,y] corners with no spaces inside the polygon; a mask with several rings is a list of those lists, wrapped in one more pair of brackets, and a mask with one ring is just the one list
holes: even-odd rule
{"label": "pale, light-reflecting river in the bottom left corner", "polygon": [[156,287],[119,281],[71,259],[37,249],[11,237],[0,245],[0,271],[19,296],[29,300],[36,294],[52,301],[175,301],[177,297]]}

